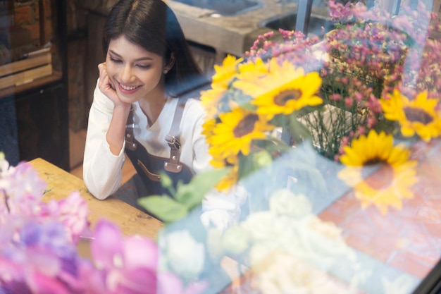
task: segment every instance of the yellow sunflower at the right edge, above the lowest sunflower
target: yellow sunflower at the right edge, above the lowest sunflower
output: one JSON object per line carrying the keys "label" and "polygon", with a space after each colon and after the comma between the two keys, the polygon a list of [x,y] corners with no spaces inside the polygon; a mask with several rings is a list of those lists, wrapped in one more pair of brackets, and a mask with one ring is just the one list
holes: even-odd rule
{"label": "yellow sunflower at the right edge, above the lowest sunflower", "polygon": [[385,118],[398,121],[404,137],[416,134],[426,142],[441,134],[441,116],[435,110],[438,103],[437,99],[428,99],[427,91],[412,101],[399,90],[394,90],[389,99],[380,99]]}

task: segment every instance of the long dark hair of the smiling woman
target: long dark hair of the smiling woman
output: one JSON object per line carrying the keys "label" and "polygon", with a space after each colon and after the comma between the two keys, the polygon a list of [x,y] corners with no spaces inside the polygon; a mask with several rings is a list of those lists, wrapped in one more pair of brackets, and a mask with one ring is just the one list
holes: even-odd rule
{"label": "long dark hair of the smiling woman", "polygon": [[166,91],[178,96],[207,82],[194,62],[175,13],[162,0],[121,0],[113,6],[104,26],[103,49],[124,35],[130,42],[163,56],[173,53],[175,63],[165,75]]}

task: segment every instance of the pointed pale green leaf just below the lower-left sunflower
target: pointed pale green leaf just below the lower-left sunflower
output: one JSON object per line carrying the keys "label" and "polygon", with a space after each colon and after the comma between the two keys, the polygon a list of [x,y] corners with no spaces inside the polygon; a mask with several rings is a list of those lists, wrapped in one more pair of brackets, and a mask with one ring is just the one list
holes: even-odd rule
{"label": "pointed pale green leaf just below the lower-left sunflower", "polygon": [[178,183],[175,199],[184,204],[189,210],[200,205],[204,195],[229,171],[230,168],[213,169],[204,173],[198,173],[188,184]]}

